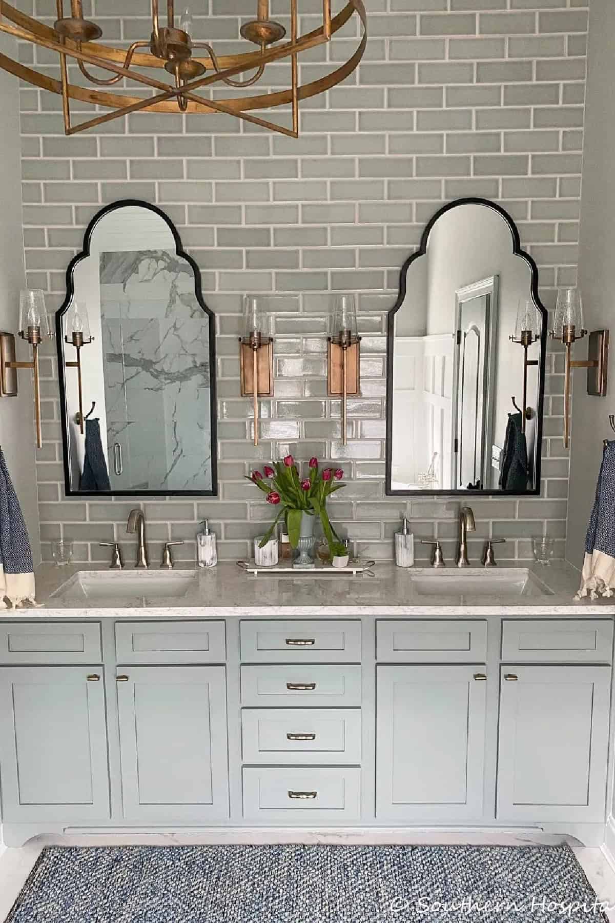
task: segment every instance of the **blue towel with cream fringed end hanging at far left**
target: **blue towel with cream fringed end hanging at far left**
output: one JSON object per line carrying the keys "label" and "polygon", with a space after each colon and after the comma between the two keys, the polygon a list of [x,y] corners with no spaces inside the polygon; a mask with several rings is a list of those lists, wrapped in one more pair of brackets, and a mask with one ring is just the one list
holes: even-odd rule
{"label": "blue towel with cream fringed end hanging at far left", "polygon": [[15,608],[35,602],[33,570],[26,522],[0,449],[0,609],[5,599]]}

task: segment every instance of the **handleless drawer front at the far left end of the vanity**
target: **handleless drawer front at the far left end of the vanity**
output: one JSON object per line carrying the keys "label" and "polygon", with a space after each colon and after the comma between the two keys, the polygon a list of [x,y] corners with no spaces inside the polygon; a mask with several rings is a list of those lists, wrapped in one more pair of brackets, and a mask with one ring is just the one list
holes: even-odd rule
{"label": "handleless drawer front at the far left end of the vanity", "polygon": [[98,622],[0,625],[0,664],[91,664],[101,659]]}

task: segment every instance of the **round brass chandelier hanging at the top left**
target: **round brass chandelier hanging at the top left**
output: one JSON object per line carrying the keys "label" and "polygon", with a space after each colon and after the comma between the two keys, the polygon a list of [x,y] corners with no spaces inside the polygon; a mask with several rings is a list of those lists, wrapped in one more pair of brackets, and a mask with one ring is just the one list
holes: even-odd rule
{"label": "round brass chandelier hanging at the top left", "polygon": [[[257,46],[257,51],[244,54],[218,55],[209,42],[195,42],[192,38],[192,18],[189,13],[176,23],[174,0],[167,0],[166,25],[160,23],[159,0],[151,0],[151,34],[148,39],[133,42],[128,49],[103,45],[97,40],[102,30],[97,23],[83,18],[81,0],[70,0],[70,16],[65,16],[65,0],[56,0],[57,19],[53,29],[36,19],[19,12],[5,0],[0,0],[0,30],[18,40],[31,42],[41,48],[57,52],[60,60],[60,79],[56,80],[32,67],[19,64],[6,54],[0,54],[0,67],[16,77],[62,96],[66,135],[74,135],[87,128],[101,125],[112,119],[136,112],[172,113],[226,113],[272,131],[299,137],[299,102],[335,87],[358,66],[367,43],[366,15],[362,0],[348,0],[347,6],[331,13],[331,0],[323,0],[323,22],[318,29],[299,35],[297,0],[290,0],[290,38],[280,23],[269,18],[269,0],[256,0],[256,18],[244,22],[242,38]],[[357,50],[342,66],[325,77],[300,85],[298,56],[309,48],[329,42],[335,33],[356,14],[361,19],[362,37]],[[148,49],[147,52],[139,49]],[[206,56],[195,56],[195,51]],[[266,73],[272,62],[290,59],[290,87],[285,90],[262,92],[257,95],[212,100],[196,90],[224,84],[241,88],[253,86]],[[90,87],[70,83],[67,61],[77,62],[79,71]],[[90,67],[100,67],[111,76],[95,77]],[[150,76],[156,68],[170,75],[171,80]],[[253,73],[254,71],[254,73]],[[244,79],[237,75],[247,73]],[[160,74],[164,77],[164,74]],[[153,90],[153,95],[143,98],[128,96],[104,88],[130,78]],[[90,102],[110,111],[98,114],[88,121],[74,124],[71,120],[70,102]],[[291,107],[292,127],[277,125],[258,115],[254,110],[276,106]]]}

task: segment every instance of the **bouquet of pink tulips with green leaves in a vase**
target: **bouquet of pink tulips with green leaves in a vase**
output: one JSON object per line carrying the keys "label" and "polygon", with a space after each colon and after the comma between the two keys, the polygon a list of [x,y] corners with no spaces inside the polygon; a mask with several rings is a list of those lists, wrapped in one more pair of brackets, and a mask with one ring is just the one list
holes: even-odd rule
{"label": "bouquet of pink tulips with green leaves in a vase", "polygon": [[292,455],[287,455],[282,462],[274,462],[273,468],[265,465],[264,475],[254,471],[248,481],[266,494],[267,503],[279,506],[278,515],[263,536],[260,547],[263,548],[271,539],[278,521],[284,517],[286,531],[289,534],[290,545],[296,548],[299,543],[302,515],[318,516],[329,548],[339,545],[339,536],[329,521],[326,512],[326,500],[336,490],[345,487],[339,482],[344,476],[341,468],[323,468],[318,466],[318,459],[312,458],[308,462],[309,473],[301,477]]}

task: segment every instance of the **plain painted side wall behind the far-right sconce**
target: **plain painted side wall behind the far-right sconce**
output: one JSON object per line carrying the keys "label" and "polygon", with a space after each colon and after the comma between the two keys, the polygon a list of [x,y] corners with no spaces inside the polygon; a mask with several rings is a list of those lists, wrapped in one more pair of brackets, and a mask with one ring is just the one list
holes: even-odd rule
{"label": "plain painted side wall behind the far-right sconce", "polygon": [[[614,31],[615,6],[610,0],[592,0],[579,284],[584,295],[585,326],[588,330],[610,329],[611,351],[609,395],[606,400],[589,397],[585,388],[585,373],[581,370],[574,372],[566,557],[577,566],[583,561],[585,529],[596,490],[602,439],[613,438],[609,414],[615,413],[615,186],[612,158],[608,154],[615,143],[612,118],[615,108],[615,66],[610,42]],[[581,342],[574,349],[574,357],[585,359],[586,351],[585,343]]]}

